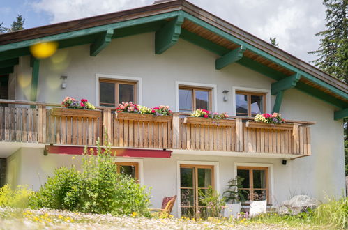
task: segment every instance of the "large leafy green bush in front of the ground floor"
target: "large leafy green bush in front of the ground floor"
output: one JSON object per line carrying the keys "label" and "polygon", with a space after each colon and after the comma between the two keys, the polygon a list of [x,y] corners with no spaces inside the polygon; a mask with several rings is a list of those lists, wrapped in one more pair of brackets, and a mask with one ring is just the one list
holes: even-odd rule
{"label": "large leafy green bush in front of the ground floor", "polygon": [[56,169],[32,199],[31,207],[149,216],[149,198],[146,187],[117,172],[111,148],[102,151],[98,143],[97,155],[85,148],[81,173],[75,167]]}

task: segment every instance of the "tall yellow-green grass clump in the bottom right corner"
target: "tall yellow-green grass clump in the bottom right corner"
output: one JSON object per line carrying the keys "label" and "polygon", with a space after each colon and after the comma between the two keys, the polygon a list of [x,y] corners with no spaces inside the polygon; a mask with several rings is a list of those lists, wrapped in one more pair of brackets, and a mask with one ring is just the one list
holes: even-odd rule
{"label": "tall yellow-green grass clump in the bottom right corner", "polygon": [[343,197],[328,203],[321,204],[313,212],[312,222],[317,225],[326,225],[335,229],[348,228],[348,198]]}

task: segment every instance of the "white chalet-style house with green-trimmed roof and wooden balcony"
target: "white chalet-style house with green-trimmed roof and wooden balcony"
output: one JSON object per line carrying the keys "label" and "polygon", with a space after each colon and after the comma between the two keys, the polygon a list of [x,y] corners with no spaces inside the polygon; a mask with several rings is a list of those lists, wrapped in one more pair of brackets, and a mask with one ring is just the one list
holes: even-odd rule
{"label": "white chalet-style house with green-trimmed roof and wooden balcony", "polygon": [[[36,44],[58,49],[38,59]],[[188,1],[1,34],[0,75],[2,183],[38,190],[55,168],[80,167],[83,146],[106,133],[120,169],[152,187],[154,208],[178,195],[176,216],[202,210],[199,189],[222,193],[237,175],[246,199],[270,206],[345,192],[347,84]],[[66,96],[97,110],[61,112]],[[174,115],[116,114],[128,101]],[[230,118],[190,120],[197,108]],[[252,121],[266,112],[287,124]]]}

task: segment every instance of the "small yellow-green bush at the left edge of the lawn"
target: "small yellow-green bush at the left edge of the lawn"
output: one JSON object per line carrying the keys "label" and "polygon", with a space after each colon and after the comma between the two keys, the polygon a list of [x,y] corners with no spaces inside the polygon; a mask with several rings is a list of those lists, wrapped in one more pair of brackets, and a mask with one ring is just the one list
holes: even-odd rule
{"label": "small yellow-green bush at the left edge of the lawn", "polygon": [[0,188],[0,206],[27,208],[32,195],[33,191],[29,190],[27,185],[18,185],[15,190],[4,185]]}

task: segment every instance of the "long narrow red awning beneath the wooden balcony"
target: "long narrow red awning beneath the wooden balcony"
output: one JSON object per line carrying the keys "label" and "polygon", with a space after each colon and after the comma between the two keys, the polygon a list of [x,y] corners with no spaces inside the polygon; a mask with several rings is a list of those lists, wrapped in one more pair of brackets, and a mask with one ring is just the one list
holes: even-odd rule
{"label": "long narrow red awning beneath the wooden balcony", "polygon": [[[96,147],[88,147],[88,151],[93,150],[97,153]],[[71,154],[82,155],[84,147],[81,146],[45,146],[46,153],[54,154]],[[112,153],[117,157],[133,157],[133,158],[170,158],[172,151],[168,150],[152,150],[152,149],[135,149],[135,148],[112,148]]]}

